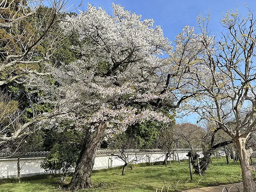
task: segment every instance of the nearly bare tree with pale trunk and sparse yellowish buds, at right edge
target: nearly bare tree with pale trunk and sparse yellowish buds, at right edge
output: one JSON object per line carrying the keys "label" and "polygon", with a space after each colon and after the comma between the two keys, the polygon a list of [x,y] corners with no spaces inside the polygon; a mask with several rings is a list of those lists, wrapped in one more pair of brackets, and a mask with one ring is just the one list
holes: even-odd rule
{"label": "nearly bare tree with pale trunk and sparse yellowish buds, at right edge", "polygon": [[[187,105],[201,119],[216,123],[236,144],[242,168],[244,191],[255,192],[249,167],[252,148],[246,147],[256,125],[255,19],[227,11],[221,18],[220,38],[211,35],[207,18],[198,17],[198,28],[185,26],[176,37],[176,56],[187,68],[182,78],[200,95]],[[176,62],[176,60],[174,60]]]}

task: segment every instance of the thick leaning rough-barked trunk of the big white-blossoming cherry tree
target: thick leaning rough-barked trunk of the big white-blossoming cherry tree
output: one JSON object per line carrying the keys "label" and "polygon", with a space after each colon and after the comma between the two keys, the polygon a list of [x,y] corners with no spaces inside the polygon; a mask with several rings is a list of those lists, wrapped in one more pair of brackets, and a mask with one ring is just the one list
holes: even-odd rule
{"label": "thick leaning rough-barked trunk of the big white-blossoming cherry tree", "polygon": [[88,132],[80,156],[76,162],[76,170],[68,189],[71,191],[92,187],[91,174],[96,156],[96,150],[103,138],[105,123],[100,122],[94,132]]}

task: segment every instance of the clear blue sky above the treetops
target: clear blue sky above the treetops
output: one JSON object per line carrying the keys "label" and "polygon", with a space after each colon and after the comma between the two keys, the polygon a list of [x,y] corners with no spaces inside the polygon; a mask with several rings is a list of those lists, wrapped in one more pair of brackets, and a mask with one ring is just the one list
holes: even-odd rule
{"label": "clear blue sky above the treetops", "polygon": [[[75,0],[75,6],[78,6],[80,2],[80,0]],[[114,2],[114,4],[121,4],[126,10],[142,15],[142,19],[152,18],[154,26],[160,25],[164,36],[171,41],[175,39],[178,33],[182,32],[182,28],[185,25],[196,28],[196,16],[200,12],[202,15],[206,15],[210,10],[211,20],[209,26],[214,33],[223,31],[219,21],[222,13],[225,13],[227,9],[236,10],[236,5],[238,5],[239,14],[246,17],[248,14],[244,6],[246,3],[251,12],[256,14],[255,0],[84,0],[82,7],[78,9],[86,10],[88,2],[96,7],[101,6],[106,9],[108,14],[112,14],[111,3]],[[72,1],[70,1],[71,3]],[[186,120],[196,123],[197,115],[190,114]]]}

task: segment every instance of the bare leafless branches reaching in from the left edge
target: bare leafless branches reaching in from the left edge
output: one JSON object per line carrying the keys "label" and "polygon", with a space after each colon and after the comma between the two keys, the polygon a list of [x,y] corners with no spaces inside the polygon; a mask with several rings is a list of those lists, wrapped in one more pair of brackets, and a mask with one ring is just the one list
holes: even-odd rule
{"label": "bare leafless branches reaching in from the left edge", "polygon": [[[56,64],[53,58],[58,57],[60,48],[69,37],[68,35],[64,36],[58,27],[60,22],[65,22],[63,20],[64,13],[71,10],[65,7],[67,1],[53,0],[48,7],[44,6],[42,2],[41,0],[3,0],[0,2],[1,90],[8,92],[9,85],[23,86],[24,90],[22,91],[26,91],[24,96],[27,97],[26,102],[28,103],[27,108],[20,109],[18,103],[23,101],[12,98],[10,104],[15,103],[13,105],[16,106],[15,112],[10,114],[10,112],[3,111],[0,114],[0,145],[28,134],[26,128],[32,124],[62,113],[55,106],[50,113],[43,114],[33,105],[35,101],[42,104],[38,96],[30,97],[30,95],[35,95],[35,92],[42,93],[43,91],[37,90],[39,87],[35,83],[32,84],[31,79],[54,73],[50,71],[51,66]],[[38,78],[36,81],[40,82],[40,79]],[[32,115],[26,120],[24,118],[21,120],[28,108],[32,111]],[[6,114],[8,114],[8,118]],[[1,120],[4,120],[5,124],[2,124]],[[13,124],[15,126],[12,126]],[[15,127],[13,132],[7,131],[8,126]]]}

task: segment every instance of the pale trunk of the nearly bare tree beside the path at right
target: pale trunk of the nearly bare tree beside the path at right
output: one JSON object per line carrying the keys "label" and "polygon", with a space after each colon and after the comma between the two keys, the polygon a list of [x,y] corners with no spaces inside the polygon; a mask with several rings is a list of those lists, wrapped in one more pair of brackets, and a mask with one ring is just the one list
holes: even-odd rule
{"label": "pale trunk of the nearly bare tree beside the path at right", "polygon": [[243,185],[244,185],[244,192],[255,192],[254,184],[252,181],[252,174],[250,170],[249,160],[252,154],[252,150],[246,150],[245,142],[246,139],[244,138],[236,138],[236,148],[239,153],[239,160],[241,163],[242,168],[242,178],[243,178]]}

